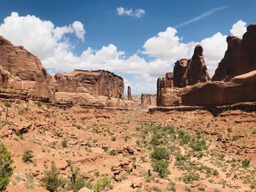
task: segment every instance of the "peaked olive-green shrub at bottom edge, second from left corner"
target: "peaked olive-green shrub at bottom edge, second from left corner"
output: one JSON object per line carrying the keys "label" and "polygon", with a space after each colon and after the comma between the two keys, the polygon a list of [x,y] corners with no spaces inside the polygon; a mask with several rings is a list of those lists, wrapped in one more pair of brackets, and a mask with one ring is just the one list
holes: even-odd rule
{"label": "peaked olive-green shrub at bottom edge, second from left corner", "polygon": [[45,170],[45,175],[42,178],[42,186],[44,186],[48,191],[57,191],[61,186],[62,179],[59,176],[59,170],[54,163],[51,164],[50,170]]}

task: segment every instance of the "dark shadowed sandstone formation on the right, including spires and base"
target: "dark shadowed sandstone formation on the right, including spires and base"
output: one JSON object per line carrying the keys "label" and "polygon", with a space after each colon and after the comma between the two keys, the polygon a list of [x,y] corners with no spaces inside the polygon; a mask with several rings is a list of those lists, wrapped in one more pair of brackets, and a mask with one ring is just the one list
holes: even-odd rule
{"label": "dark shadowed sandstone formation on the right, including spires and base", "polygon": [[256,101],[255,55],[256,24],[251,24],[242,39],[227,37],[225,56],[211,79],[203,47],[197,45],[192,58],[176,62],[172,82],[168,82],[167,76],[157,80],[157,106],[216,106]]}

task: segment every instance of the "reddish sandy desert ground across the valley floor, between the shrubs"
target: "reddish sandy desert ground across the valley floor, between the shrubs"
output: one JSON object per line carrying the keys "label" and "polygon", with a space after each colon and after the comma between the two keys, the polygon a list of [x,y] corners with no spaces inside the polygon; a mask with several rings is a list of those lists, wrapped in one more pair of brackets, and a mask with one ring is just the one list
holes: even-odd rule
{"label": "reddish sandy desert ground across the valley floor, between the shrubs", "polygon": [[[0,110],[2,125],[6,116],[4,101]],[[182,168],[177,166],[177,153],[170,150],[170,174],[161,178],[152,168],[154,147],[150,141],[156,133],[151,132],[151,123],[161,124],[162,128],[172,126],[177,133],[182,130],[191,138],[200,135],[207,149],[193,151],[178,139],[168,139],[160,129],[165,142],[159,146],[167,150],[176,146],[178,153],[189,157],[183,161],[186,168]],[[68,160],[92,185],[101,177],[109,177],[111,187],[105,191],[255,191],[256,187],[255,112],[227,111],[214,118],[200,110],[148,114],[139,109],[63,109],[34,101],[13,101],[0,136],[15,161],[7,191],[46,191],[41,186],[45,169],[53,161],[61,175],[68,177]],[[62,145],[64,140],[67,147]],[[31,162],[23,162],[25,150],[32,151]],[[243,166],[244,159],[249,160],[249,166]],[[199,169],[203,166],[218,174]],[[152,174],[149,178],[148,169]],[[182,178],[189,172],[200,179],[184,183]],[[28,183],[32,186],[28,187]]]}

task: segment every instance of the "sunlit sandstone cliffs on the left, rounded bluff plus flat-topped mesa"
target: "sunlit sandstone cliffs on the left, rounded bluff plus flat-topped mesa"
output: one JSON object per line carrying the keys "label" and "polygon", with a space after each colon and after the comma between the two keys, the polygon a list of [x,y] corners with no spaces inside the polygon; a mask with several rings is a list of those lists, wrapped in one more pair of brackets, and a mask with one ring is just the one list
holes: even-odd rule
{"label": "sunlit sandstone cliffs on the left, rounded bluff plus flat-topped mesa", "polygon": [[[47,73],[41,61],[22,46],[0,37],[0,87],[12,89],[11,96],[26,94],[54,104],[82,104],[98,107],[129,107],[124,101],[124,80],[112,72],[75,70]],[[8,89],[7,89],[8,88]],[[20,92],[17,92],[20,91]]]}

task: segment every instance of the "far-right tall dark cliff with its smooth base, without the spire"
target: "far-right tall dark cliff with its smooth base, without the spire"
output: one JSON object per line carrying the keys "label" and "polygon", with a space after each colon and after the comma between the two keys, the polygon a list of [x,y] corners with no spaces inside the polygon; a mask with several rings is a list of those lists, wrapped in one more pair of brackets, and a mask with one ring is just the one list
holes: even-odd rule
{"label": "far-right tall dark cliff with its smooth base, without the spire", "polygon": [[243,39],[227,37],[227,44],[212,81],[184,89],[182,104],[224,105],[256,101],[256,24],[247,27]]}

